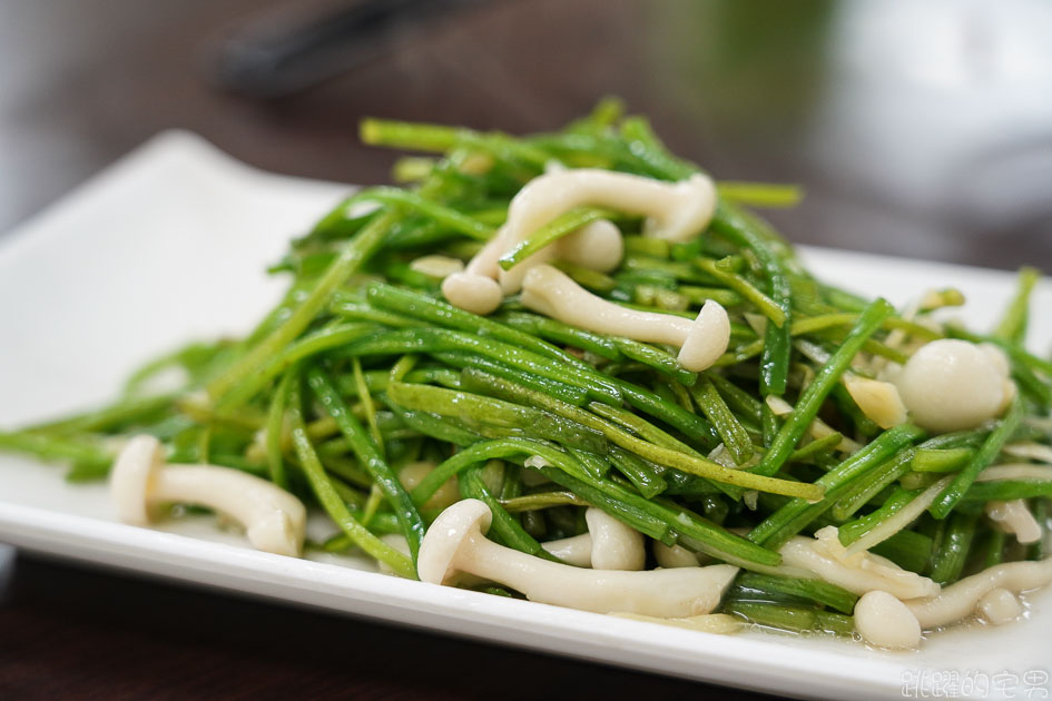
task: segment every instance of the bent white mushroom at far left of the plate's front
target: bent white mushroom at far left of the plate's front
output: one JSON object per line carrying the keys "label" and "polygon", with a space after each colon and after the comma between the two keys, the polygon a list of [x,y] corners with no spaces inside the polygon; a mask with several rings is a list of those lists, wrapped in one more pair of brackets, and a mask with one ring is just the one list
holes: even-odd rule
{"label": "bent white mushroom at far left of the plate's front", "polygon": [[157,438],[131,438],[114,463],[110,492],[118,517],[147,525],[151,509],[178,503],[208,506],[245,526],[257,550],[298,556],[303,550],[306,510],[275,484],[230,467],[165,464]]}

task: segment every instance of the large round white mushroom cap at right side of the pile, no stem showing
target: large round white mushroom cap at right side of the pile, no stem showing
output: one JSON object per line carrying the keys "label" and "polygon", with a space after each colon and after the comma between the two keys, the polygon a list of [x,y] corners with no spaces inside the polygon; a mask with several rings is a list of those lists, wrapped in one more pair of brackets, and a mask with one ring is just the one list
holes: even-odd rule
{"label": "large round white mushroom cap at right side of the pile, no stem showing", "polygon": [[935,432],[974,428],[999,416],[1015,395],[1004,353],[955,338],[922,346],[892,382],[914,423]]}

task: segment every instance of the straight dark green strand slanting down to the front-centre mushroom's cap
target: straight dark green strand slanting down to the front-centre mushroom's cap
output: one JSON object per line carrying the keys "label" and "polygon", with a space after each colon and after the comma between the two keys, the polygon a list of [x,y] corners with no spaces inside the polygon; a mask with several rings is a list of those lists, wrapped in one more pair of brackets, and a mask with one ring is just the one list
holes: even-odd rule
{"label": "straight dark green strand slanting down to the front-centre mushroom's cap", "polygon": [[312,367],[307,371],[307,384],[325,412],[340,426],[340,432],[347,440],[355,457],[368,472],[373,483],[391,505],[399,523],[402,525],[402,534],[409,543],[410,553],[413,562],[415,562],[420,543],[424,537],[424,522],[420,517],[413,500],[410,498],[409,493],[383,458],[378,447],[380,444],[376,443],[375,438],[368,436],[362,424],[347,411],[347,406],[340,393],[336,392],[333,382],[321,368]]}

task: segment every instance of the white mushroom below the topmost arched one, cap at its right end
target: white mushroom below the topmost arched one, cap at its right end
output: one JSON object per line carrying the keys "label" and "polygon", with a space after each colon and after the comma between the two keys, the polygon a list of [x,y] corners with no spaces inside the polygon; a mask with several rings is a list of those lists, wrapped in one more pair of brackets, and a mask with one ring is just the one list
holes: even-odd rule
{"label": "white mushroom below the topmost arched one, cap at its right end", "polygon": [[588,330],[679,346],[680,364],[694,372],[711,366],[730,342],[730,319],[717,302],[706,302],[694,322],[671,314],[637,312],[591,294],[550,265],[527,273],[522,304]]}

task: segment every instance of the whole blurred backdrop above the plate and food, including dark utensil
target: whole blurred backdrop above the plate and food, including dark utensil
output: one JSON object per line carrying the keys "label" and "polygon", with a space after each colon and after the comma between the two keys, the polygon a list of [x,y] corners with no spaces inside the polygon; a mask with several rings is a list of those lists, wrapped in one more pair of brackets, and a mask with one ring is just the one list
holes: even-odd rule
{"label": "whole blurred backdrop above the plate and food, including dark utensil", "polygon": [[371,184],[362,116],[551,129],[604,95],[793,240],[1052,268],[1044,0],[0,1],[0,231],[171,127]]}

